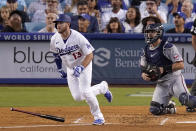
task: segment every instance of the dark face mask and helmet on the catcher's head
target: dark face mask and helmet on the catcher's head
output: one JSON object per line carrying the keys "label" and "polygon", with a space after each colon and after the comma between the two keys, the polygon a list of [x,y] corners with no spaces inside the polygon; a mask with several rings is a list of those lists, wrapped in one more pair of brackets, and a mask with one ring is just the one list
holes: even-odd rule
{"label": "dark face mask and helmet on the catcher's head", "polygon": [[[158,39],[163,37],[163,32],[163,25],[160,23],[147,25],[144,30],[145,42],[147,44],[155,43]],[[155,34],[152,35],[153,33]]]}

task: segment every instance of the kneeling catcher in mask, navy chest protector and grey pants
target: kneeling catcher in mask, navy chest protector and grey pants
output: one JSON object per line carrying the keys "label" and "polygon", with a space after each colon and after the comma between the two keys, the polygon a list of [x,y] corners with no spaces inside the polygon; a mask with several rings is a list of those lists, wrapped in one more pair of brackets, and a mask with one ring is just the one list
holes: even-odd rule
{"label": "kneeling catcher in mask, navy chest protector and grey pants", "polygon": [[144,80],[151,81],[150,76],[145,73],[148,65],[160,69],[160,77],[156,81],[150,103],[150,112],[154,115],[175,113],[174,103],[170,101],[173,96],[178,98],[182,105],[196,107],[196,97],[190,95],[181,73],[184,68],[183,59],[174,44],[162,39],[163,32],[161,24],[146,27],[144,36],[147,45],[141,56],[141,76]]}

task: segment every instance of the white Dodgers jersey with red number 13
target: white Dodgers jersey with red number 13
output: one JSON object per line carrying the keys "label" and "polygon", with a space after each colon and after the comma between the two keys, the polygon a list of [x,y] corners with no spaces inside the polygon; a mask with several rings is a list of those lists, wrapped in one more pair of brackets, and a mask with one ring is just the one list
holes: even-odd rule
{"label": "white Dodgers jersey with red number 13", "polygon": [[64,41],[56,32],[50,42],[50,51],[60,55],[63,64],[68,68],[81,65],[85,56],[92,53],[94,48],[89,41],[76,30],[70,29],[70,36]]}

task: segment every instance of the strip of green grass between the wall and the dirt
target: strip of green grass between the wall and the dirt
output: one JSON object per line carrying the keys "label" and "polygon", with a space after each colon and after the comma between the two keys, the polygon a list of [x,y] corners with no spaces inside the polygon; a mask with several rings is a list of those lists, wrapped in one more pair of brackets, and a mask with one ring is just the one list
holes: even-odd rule
{"label": "strip of green grass between the wall and the dirt", "polygon": [[[110,90],[114,96],[113,102],[108,103],[103,95],[98,95],[101,106],[149,105],[151,96],[130,96],[130,94],[152,94],[154,88],[110,88]],[[68,88],[0,87],[0,107],[81,105],[87,104],[84,101],[74,101]]]}

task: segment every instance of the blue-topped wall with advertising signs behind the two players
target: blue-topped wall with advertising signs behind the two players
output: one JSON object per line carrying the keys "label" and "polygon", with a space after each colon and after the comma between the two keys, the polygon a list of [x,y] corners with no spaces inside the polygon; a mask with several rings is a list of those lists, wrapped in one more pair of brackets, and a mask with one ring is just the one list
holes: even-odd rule
{"label": "blue-topped wall with advertising signs behind the two players", "polygon": [[[59,78],[49,40],[53,34],[1,33],[0,83],[67,84]],[[140,75],[139,58],[145,46],[142,34],[84,34],[95,48],[93,83],[107,80],[110,84],[147,84]],[[176,44],[185,62],[182,71],[191,84],[196,70],[190,65],[194,56],[191,35],[166,35]]]}

